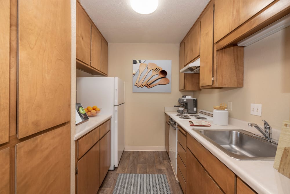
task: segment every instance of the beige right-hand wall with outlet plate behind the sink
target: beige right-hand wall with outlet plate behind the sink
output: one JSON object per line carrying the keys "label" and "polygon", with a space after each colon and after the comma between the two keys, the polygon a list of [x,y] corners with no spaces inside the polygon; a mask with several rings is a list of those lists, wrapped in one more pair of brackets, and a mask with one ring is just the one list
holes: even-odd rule
{"label": "beige right-hand wall with outlet plate behind the sink", "polygon": [[[276,129],[289,119],[290,27],[244,48],[244,87],[203,89],[194,92],[198,109],[232,102],[230,117]],[[262,117],[250,115],[250,104],[262,104]]]}

